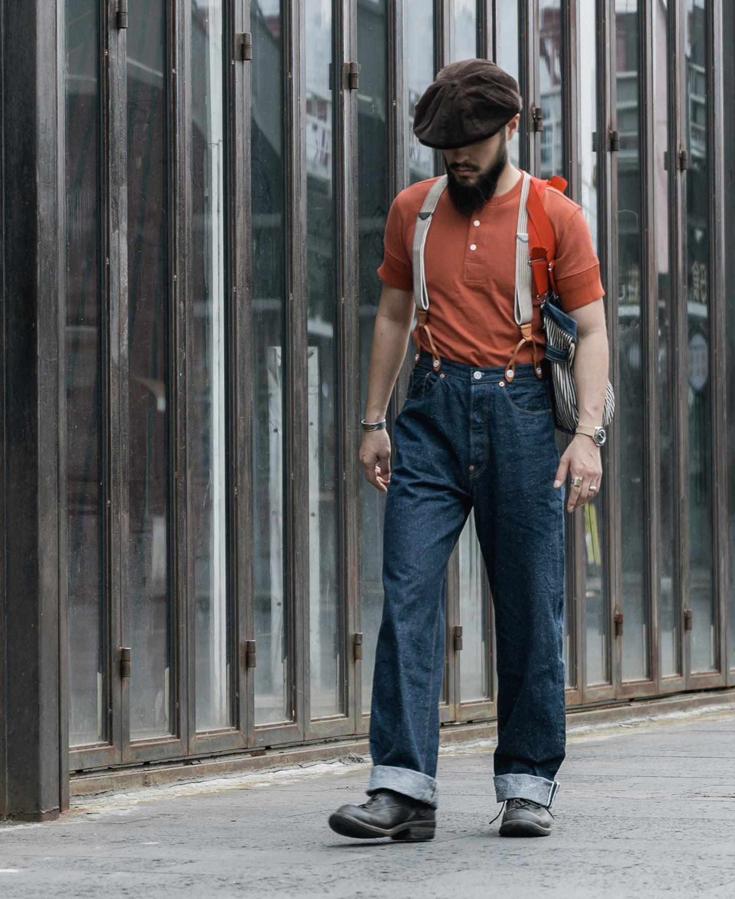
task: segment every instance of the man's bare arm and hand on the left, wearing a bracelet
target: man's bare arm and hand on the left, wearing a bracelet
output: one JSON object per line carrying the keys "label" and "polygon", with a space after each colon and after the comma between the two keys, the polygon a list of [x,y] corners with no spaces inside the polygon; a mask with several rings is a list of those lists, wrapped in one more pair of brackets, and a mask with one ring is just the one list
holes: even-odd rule
{"label": "man's bare arm and hand on the left, wearing a bracelet", "polygon": [[[384,282],[370,350],[366,422],[379,422],[385,418],[395,379],[406,355],[414,308],[411,290],[391,287]],[[391,477],[390,459],[391,441],[385,428],[366,431],[359,450],[360,465],[370,484],[384,494]]]}

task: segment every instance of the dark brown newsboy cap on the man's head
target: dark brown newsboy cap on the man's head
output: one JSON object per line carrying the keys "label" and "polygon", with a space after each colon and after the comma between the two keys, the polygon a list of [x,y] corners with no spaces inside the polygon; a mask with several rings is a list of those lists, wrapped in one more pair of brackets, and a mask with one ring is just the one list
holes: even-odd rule
{"label": "dark brown newsboy cap on the man's head", "polygon": [[413,117],[421,144],[450,150],[491,138],[522,106],[518,82],[490,59],[463,59],[439,69]]}

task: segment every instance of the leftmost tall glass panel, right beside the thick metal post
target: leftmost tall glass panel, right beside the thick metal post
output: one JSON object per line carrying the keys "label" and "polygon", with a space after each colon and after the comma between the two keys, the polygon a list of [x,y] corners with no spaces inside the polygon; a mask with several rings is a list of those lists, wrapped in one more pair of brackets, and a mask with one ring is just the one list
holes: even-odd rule
{"label": "leftmost tall glass panel, right beside the thick metal post", "polygon": [[69,742],[103,740],[105,461],[100,22],[66,0],[66,490]]}

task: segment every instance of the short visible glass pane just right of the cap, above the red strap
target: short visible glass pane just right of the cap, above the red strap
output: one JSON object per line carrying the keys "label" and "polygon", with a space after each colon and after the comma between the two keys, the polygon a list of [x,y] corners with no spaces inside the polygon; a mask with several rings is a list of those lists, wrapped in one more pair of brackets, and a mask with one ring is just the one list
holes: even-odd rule
{"label": "short visible glass pane just right of the cap, above the red strap", "polygon": [[539,0],[538,16],[538,77],[544,112],[540,177],[551,178],[553,174],[565,174],[562,0]]}

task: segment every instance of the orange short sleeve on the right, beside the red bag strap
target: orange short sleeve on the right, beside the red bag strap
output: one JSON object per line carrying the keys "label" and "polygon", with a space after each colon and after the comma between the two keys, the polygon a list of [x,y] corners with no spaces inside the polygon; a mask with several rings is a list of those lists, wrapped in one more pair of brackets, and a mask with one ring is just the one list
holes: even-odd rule
{"label": "orange short sleeve on the right, beside the red bag strap", "polygon": [[554,274],[564,312],[605,296],[599,277],[598,256],[580,207],[567,219],[558,238]]}

